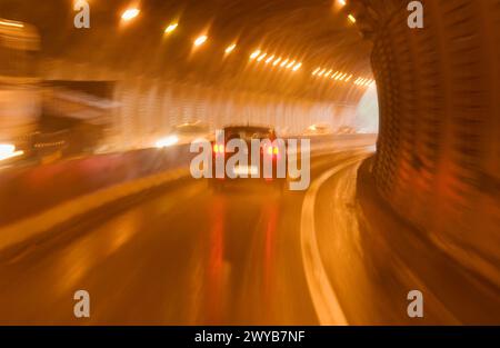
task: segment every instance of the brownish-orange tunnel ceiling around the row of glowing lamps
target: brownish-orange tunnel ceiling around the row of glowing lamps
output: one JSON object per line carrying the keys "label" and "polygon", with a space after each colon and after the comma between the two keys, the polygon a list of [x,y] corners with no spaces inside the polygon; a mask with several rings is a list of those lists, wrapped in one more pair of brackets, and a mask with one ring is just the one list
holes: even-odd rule
{"label": "brownish-orange tunnel ceiling around the row of glowing lamps", "polygon": [[[39,4],[34,4],[39,3]],[[91,28],[73,27],[72,0],[0,0],[0,17],[28,21],[42,34],[42,56],[99,67],[106,78],[149,76],[186,83],[352,102],[371,78],[370,42],[334,0],[91,0]],[[130,6],[141,13],[123,24]],[[169,36],[164,28],[178,22]],[[192,51],[196,37],[207,44]],[[224,49],[237,49],[224,58]],[[302,62],[299,71],[252,64],[257,49]],[[269,57],[268,56],[268,57]],[[317,79],[318,67],[353,74],[351,83]]]}

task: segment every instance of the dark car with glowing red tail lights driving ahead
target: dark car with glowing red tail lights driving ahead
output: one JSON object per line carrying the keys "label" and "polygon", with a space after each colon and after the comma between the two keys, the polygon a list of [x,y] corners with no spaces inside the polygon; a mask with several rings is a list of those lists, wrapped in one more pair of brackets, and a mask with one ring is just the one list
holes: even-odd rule
{"label": "dark car with glowing red tail lights driving ahead", "polygon": [[[286,151],[284,141],[277,138],[273,128],[226,127],[223,136],[219,136],[212,143],[210,183],[216,190],[242,183],[263,183],[281,190],[287,181]],[[246,157],[247,163],[236,160],[238,153],[240,158]],[[222,163],[224,169],[223,173],[219,170],[219,176],[218,162],[219,169]]]}

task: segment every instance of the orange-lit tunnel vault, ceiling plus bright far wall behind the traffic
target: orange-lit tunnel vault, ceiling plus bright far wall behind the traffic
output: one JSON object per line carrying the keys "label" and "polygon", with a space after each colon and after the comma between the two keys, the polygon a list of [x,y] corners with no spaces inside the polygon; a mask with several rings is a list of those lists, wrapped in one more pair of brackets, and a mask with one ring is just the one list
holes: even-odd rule
{"label": "orange-lit tunnel vault, ceiling plus bright far wall behind the traffic", "polygon": [[[34,9],[6,0],[2,11],[40,30],[43,79],[117,81],[121,107],[109,140],[117,148],[147,147],[200,119],[212,129],[239,119],[271,123],[283,135],[358,126],[368,86],[353,82],[372,78],[371,43],[336,1],[143,1],[141,18],[124,23],[120,13],[131,2],[112,0],[91,4],[83,30],[73,27],[71,1],[51,2]],[[163,33],[171,23],[176,31]],[[193,49],[201,34],[207,43]],[[266,58],[251,59],[256,51]],[[151,118],[154,111],[162,117]],[[364,109],[364,118],[376,117]]]}

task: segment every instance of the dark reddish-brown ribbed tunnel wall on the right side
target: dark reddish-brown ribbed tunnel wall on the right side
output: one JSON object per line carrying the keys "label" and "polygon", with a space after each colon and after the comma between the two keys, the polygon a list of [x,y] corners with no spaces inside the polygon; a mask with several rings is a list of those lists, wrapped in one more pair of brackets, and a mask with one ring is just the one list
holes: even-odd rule
{"label": "dark reddish-brown ribbed tunnel wall on the right side", "polygon": [[422,1],[374,36],[379,193],[457,260],[500,285],[500,1]]}

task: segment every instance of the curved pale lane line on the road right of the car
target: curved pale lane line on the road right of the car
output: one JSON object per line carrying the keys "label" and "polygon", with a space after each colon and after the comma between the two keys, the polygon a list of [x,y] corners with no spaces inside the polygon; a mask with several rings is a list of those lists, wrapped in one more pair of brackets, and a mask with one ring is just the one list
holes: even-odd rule
{"label": "curved pale lane line on the road right of the car", "polygon": [[348,321],[321,261],[314,228],[316,198],[328,179],[360,160],[361,158],[356,158],[323,172],[312,182],[302,203],[300,241],[303,268],[320,325],[348,325]]}

